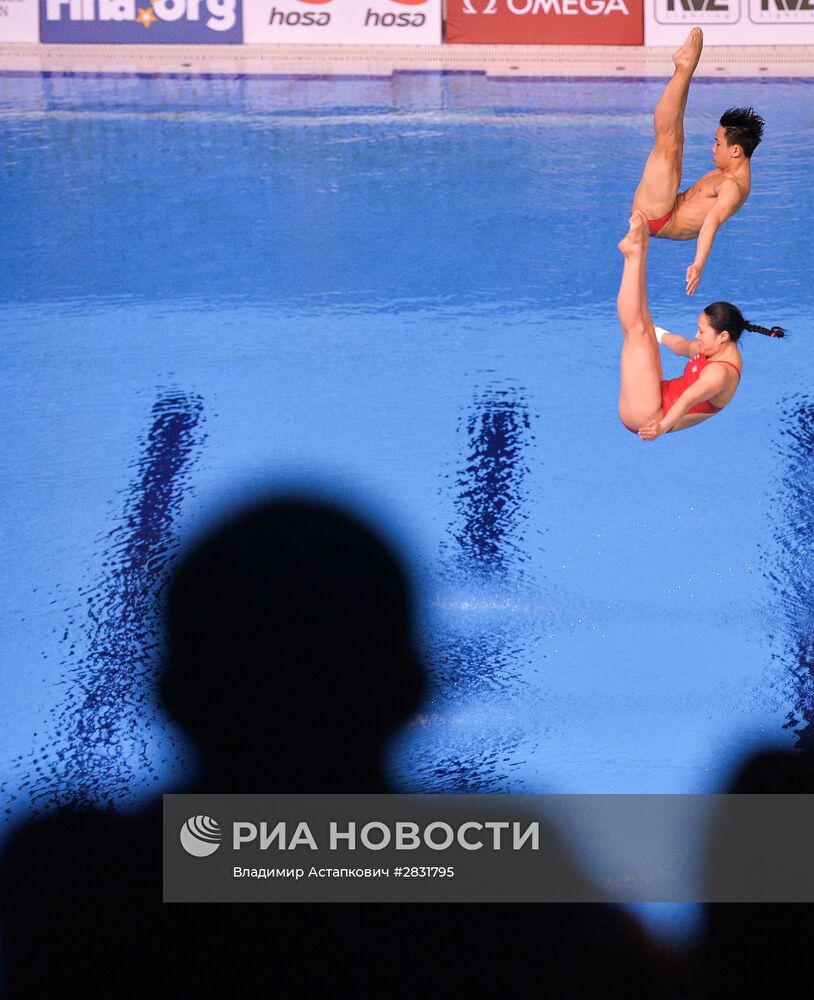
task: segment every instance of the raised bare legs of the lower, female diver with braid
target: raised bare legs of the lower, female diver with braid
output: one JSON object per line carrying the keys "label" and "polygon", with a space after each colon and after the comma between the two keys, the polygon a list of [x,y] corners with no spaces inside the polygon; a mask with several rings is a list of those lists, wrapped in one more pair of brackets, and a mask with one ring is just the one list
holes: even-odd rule
{"label": "raised bare legs of the lower, female diver with braid", "polygon": [[630,232],[619,244],[625,266],[616,299],[624,337],[619,416],[633,430],[661,415],[661,357],[647,305],[648,241],[647,219],[634,211]]}

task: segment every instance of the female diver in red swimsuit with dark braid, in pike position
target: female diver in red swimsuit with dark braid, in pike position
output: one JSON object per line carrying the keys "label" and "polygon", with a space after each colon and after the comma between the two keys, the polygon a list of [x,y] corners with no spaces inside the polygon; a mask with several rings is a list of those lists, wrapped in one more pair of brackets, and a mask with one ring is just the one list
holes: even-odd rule
{"label": "female diver in red swimsuit with dark braid, in pike position", "polygon": [[[708,420],[732,400],[743,367],[736,345],[744,330],[767,337],[782,337],[785,331],[747,323],[729,302],[707,306],[698,317],[695,340],[655,327],[647,307],[648,242],[647,218],[634,211],[630,232],[619,244],[625,257],[616,300],[624,336],[619,416],[629,431],[654,441]],[[691,359],[680,378],[662,379],[659,344]]]}

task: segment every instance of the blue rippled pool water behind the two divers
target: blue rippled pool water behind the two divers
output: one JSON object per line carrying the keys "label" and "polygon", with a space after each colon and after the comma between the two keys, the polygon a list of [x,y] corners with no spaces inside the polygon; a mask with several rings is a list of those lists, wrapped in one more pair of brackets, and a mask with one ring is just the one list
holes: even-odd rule
{"label": "blue rippled pool water behind the two divers", "polygon": [[269,481],[410,555],[402,787],[712,791],[811,739],[812,87],[693,88],[685,181],[724,107],[766,137],[694,299],[692,244],[653,246],[654,318],[723,298],[795,337],[745,336],[735,403],[644,445],[615,244],[661,86],[0,77],[10,814],[190,773],[156,588]]}

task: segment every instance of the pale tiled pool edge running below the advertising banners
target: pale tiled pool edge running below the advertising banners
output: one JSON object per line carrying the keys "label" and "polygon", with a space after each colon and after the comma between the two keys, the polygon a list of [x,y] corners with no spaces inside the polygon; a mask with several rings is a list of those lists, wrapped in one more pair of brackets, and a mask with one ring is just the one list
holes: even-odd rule
{"label": "pale tiled pool edge running below the advertising banners", "polygon": [[[390,77],[478,73],[496,79],[663,78],[672,48],[574,45],[0,45],[0,74]],[[709,46],[700,79],[814,78],[814,46]]]}

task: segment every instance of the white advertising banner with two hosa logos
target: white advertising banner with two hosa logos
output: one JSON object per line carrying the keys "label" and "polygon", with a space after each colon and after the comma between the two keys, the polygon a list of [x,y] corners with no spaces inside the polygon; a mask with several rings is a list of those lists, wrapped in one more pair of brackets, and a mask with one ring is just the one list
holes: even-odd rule
{"label": "white advertising banner with two hosa logos", "polygon": [[244,41],[440,45],[441,0],[245,0]]}

